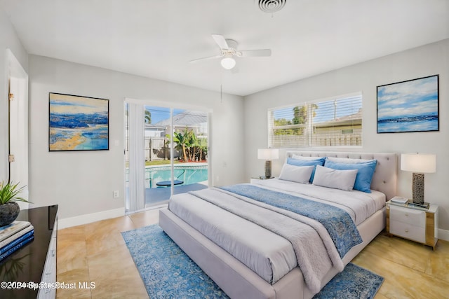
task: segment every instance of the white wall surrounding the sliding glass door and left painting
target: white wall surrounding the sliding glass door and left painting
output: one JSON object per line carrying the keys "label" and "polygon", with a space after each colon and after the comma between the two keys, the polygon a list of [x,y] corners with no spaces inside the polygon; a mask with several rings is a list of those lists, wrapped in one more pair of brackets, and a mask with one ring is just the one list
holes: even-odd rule
{"label": "white wall surrounding the sliding glass door and left painting", "polygon": [[[109,151],[48,151],[48,92],[109,99]],[[60,219],[122,209],[123,99],[213,109],[211,161],[216,186],[243,180],[243,98],[107,69],[29,55],[29,197],[59,204]],[[119,146],[115,146],[115,141]],[[223,162],[227,167],[223,167]],[[112,198],[119,190],[121,197]]]}

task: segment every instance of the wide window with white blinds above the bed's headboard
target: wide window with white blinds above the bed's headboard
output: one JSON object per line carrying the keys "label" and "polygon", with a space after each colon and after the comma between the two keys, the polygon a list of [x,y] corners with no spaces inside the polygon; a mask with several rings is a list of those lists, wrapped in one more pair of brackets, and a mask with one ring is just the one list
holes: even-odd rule
{"label": "wide window with white blinds above the bed's headboard", "polygon": [[362,94],[268,110],[270,148],[362,145]]}

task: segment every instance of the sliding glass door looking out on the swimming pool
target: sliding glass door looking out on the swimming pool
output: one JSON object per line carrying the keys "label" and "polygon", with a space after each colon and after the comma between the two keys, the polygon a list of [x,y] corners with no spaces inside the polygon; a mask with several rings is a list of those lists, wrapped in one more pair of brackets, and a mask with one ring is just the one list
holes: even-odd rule
{"label": "sliding glass door looking out on the swimming pool", "polygon": [[135,102],[125,111],[126,211],[208,187],[208,112]]}

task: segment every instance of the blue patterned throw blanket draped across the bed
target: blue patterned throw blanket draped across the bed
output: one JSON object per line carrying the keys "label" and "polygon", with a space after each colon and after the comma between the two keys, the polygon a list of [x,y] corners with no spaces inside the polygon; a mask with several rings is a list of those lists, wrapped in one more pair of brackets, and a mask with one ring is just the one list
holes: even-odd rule
{"label": "blue patterned throw blanket draped across the bed", "polygon": [[351,216],[343,209],[333,205],[248,184],[222,187],[222,190],[227,190],[258,202],[264,202],[274,207],[293,211],[319,221],[328,230],[340,258],[343,258],[352,247],[363,242]]}

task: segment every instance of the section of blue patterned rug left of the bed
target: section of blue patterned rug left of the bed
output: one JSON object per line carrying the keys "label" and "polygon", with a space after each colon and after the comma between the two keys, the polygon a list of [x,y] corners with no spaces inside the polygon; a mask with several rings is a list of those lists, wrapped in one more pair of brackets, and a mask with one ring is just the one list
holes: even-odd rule
{"label": "section of blue patterned rug left of the bed", "polygon": [[159,225],[122,232],[151,299],[229,298]]}

